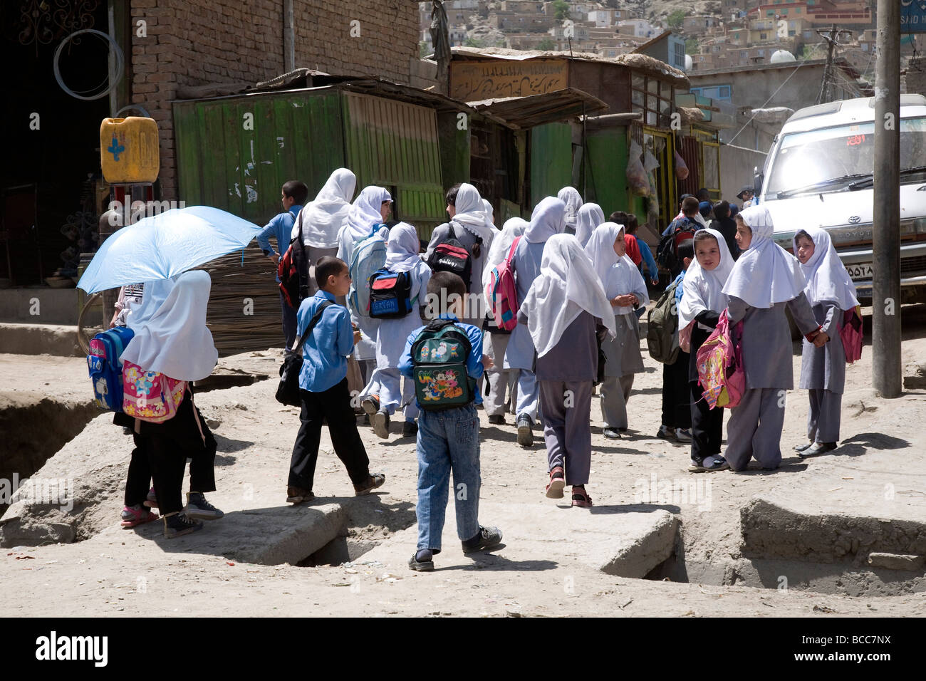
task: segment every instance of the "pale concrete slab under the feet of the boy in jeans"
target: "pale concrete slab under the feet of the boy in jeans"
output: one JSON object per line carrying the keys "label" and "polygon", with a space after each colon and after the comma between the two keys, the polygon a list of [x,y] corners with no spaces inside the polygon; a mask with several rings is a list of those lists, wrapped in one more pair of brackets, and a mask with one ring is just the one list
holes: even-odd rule
{"label": "pale concrete slab under the feet of the boy in jeans", "polygon": [[[451,504],[453,502],[451,501]],[[643,577],[665,561],[675,548],[678,520],[669,511],[633,511],[640,507],[572,509],[550,501],[538,504],[481,503],[480,519],[502,531],[504,546],[491,552],[464,555],[457,538],[453,509],[448,507],[443,551],[438,569],[481,564],[494,569],[536,570],[578,563],[621,577]],[[418,528],[396,533],[370,550],[363,561],[380,561],[393,571],[407,570],[418,543]],[[556,559],[556,561],[551,559]]]}

